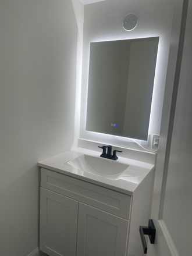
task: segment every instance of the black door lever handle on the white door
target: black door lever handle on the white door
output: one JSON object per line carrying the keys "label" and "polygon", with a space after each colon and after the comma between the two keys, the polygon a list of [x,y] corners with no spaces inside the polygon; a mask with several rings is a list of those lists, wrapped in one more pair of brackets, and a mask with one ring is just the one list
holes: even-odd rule
{"label": "black door lever handle on the white door", "polygon": [[148,236],[150,237],[151,244],[155,243],[156,229],[155,229],[154,222],[152,221],[152,219],[149,219],[148,227],[147,226],[140,226],[139,227],[139,232],[140,232],[140,236],[141,236],[141,242],[143,244],[144,254],[147,254],[147,243],[145,241],[144,234],[148,234]]}

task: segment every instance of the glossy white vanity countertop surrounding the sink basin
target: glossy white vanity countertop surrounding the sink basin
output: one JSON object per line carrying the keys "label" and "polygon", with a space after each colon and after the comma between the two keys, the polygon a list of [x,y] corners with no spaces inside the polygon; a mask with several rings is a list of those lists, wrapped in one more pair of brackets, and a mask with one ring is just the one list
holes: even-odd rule
{"label": "glossy white vanity countertop surrounding the sink basin", "polygon": [[[74,158],[81,155],[91,155],[99,158],[99,152],[93,150],[87,150],[85,148],[76,148],[71,151],[64,152],[54,157],[45,159],[38,162],[38,166],[42,168],[53,170],[63,175],[75,177],[85,182],[97,184],[98,186],[107,187],[108,189],[116,190],[121,193],[133,195],[137,187],[143,182],[144,178],[154,169],[154,164],[137,161],[135,159],[129,159],[125,157],[119,157],[117,162],[125,163],[129,165],[126,173],[120,176],[118,179],[112,180],[108,177],[95,175],[93,173],[84,172],[73,168],[72,166],[63,165],[63,163],[71,161]],[[105,159],[105,158],[104,158]],[[106,161],[113,161],[106,159]]]}

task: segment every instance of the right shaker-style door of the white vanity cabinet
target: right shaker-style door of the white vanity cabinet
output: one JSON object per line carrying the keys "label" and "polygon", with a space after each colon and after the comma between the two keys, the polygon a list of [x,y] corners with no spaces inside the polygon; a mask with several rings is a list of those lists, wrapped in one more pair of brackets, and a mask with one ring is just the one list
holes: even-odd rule
{"label": "right shaker-style door of the white vanity cabinet", "polygon": [[129,221],[79,203],[77,256],[125,256]]}

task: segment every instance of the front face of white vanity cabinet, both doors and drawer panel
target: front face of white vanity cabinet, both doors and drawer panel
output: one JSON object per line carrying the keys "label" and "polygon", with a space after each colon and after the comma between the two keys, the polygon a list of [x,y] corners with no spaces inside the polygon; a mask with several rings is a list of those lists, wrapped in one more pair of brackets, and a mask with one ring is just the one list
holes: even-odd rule
{"label": "front face of white vanity cabinet, both doors and drawer panel", "polygon": [[125,256],[131,197],[41,168],[40,250]]}

